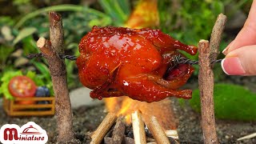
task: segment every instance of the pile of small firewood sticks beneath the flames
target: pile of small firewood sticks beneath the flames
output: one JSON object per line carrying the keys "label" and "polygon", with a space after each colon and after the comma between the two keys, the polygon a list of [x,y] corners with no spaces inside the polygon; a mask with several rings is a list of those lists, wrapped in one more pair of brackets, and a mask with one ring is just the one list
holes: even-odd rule
{"label": "pile of small firewood sticks beneath the flames", "polygon": [[[130,115],[132,125],[127,124],[122,115],[117,118],[114,113],[107,114],[98,129],[92,134],[90,143],[100,143],[104,137],[105,144],[178,143],[177,130],[165,131],[156,117],[152,116],[147,121],[146,126],[149,127],[147,130],[142,119],[144,114],[140,110],[136,110]],[[113,126],[116,119],[117,122]],[[111,127],[114,128],[110,130]]]}

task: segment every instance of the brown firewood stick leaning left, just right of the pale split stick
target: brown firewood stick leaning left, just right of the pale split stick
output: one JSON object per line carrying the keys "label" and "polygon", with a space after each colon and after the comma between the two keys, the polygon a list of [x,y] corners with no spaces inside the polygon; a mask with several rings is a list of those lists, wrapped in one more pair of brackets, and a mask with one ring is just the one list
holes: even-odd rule
{"label": "brown firewood stick leaning left, just right of the pale split stick", "polygon": [[156,117],[152,116],[150,122],[148,123],[148,128],[153,135],[155,141],[160,144],[170,143],[169,139],[166,137],[165,131],[160,126]]}

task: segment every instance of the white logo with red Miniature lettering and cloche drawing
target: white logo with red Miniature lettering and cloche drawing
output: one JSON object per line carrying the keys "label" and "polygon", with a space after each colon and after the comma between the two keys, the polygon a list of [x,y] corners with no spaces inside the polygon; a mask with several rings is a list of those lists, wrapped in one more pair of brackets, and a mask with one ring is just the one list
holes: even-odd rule
{"label": "white logo with red Miniature lettering and cloche drawing", "polygon": [[0,130],[0,142],[3,144],[45,144],[47,141],[46,130],[34,122],[27,122],[22,127],[16,124],[6,124]]}

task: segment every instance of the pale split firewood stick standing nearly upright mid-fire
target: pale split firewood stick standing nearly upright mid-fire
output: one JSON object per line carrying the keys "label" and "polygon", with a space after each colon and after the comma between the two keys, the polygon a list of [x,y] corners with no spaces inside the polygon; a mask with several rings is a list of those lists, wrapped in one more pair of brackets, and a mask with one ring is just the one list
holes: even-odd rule
{"label": "pale split firewood stick standing nearly upright mid-fire", "polygon": [[146,144],[145,125],[142,121],[142,112],[136,110],[131,114],[133,129],[134,129],[134,142],[135,144]]}

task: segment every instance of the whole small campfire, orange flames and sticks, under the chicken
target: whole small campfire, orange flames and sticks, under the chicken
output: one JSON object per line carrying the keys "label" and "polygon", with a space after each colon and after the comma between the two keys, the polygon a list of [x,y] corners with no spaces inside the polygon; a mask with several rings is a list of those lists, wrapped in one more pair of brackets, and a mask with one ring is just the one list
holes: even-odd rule
{"label": "whole small campfire, orange flames and sticks, under the chicken", "polygon": [[109,114],[91,134],[90,143],[178,142],[177,121],[169,98],[147,103],[123,96],[106,98],[105,102]]}

